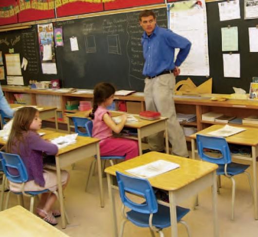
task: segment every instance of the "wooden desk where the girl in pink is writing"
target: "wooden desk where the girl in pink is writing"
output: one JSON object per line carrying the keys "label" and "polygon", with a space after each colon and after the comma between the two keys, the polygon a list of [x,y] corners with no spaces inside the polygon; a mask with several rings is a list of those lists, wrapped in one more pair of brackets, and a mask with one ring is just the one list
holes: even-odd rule
{"label": "wooden desk where the girl in pink is writing", "polygon": [[[111,116],[120,116],[123,114],[123,112],[118,111],[110,111]],[[69,114],[67,115],[67,127],[68,132],[71,133],[71,125],[70,125],[70,119],[73,117],[82,117],[85,118],[86,111],[78,112],[75,114]],[[146,119],[140,119],[138,115],[133,115],[136,119],[138,119],[138,122],[133,123],[126,123],[125,127],[127,128],[135,128],[137,129],[137,140],[138,140],[138,146],[139,146],[139,154],[142,154],[142,138],[148,135],[153,135],[155,133],[164,131],[165,132],[165,141],[166,141],[166,153],[168,154],[168,134],[167,134],[167,118],[162,117],[160,119],[155,120],[146,120]],[[127,136],[123,136],[124,138],[129,138]]]}

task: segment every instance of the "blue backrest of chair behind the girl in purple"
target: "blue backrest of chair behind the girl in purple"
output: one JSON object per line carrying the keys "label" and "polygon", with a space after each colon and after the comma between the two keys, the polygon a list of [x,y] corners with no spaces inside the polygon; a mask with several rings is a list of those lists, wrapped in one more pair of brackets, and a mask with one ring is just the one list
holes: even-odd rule
{"label": "blue backrest of chair behind the girl in purple", "polygon": [[28,180],[27,169],[17,154],[0,152],[0,161],[6,178],[14,183],[24,183]]}

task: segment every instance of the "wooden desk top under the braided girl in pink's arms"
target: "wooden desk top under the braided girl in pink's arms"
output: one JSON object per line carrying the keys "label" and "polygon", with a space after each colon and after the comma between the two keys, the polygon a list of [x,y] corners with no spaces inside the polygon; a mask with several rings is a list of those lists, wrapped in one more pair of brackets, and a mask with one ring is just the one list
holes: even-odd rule
{"label": "wooden desk top under the braided girl in pink's arms", "polygon": [[[110,111],[112,117],[120,116],[121,114],[125,114],[125,112],[120,112],[120,111]],[[81,111],[78,113],[74,114],[67,114],[66,117],[73,118],[73,117],[79,117],[79,118],[86,118],[85,114],[87,111]],[[158,121],[166,120],[167,118],[162,117],[160,119],[155,119],[155,120],[147,120],[147,119],[141,119],[139,115],[133,115],[136,119],[138,119],[138,122],[134,123],[126,123],[125,126],[129,128],[142,128],[145,126],[148,126],[149,124],[156,123]],[[88,118],[89,119],[89,118]]]}

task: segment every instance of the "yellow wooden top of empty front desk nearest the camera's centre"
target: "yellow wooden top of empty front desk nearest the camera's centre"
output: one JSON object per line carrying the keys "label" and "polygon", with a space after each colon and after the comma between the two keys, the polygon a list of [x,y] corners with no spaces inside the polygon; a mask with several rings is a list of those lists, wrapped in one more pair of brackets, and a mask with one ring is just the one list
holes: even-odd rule
{"label": "yellow wooden top of empty front desk nearest the camera's centre", "polygon": [[180,164],[180,168],[178,169],[173,169],[169,172],[148,179],[151,186],[167,191],[180,189],[181,187],[184,187],[218,169],[218,165],[200,160],[193,160],[160,152],[148,152],[128,161],[110,166],[105,169],[105,172],[111,175],[115,175],[115,171],[129,174],[125,170],[146,165],[158,159]]}

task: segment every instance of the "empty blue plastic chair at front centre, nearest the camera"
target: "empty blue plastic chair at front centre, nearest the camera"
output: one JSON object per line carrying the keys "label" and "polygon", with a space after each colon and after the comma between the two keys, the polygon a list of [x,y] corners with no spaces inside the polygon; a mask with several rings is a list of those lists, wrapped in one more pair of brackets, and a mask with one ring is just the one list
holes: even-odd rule
{"label": "empty blue plastic chair at front centre, nearest the camera", "polygon": [[[125,218],[121,223],[119,237],[123,236],[125,223],[128,220],[139,227],[148,227],[153,237],[154,232],[158,232],[160,237],[163,237],[162,229],[171,225],[169,207],[157,203],[153,188],[148,180],[131,177],[118,171],[116,171],[116,178],[123,203],[122,215]],[[141,196],[145,201],[141,204],[135,203],[129,199],[126,193]],[[127,213],[125,213],[125,206],[131,209]],[[181,219],[189,211],[188,208],[176,206],[177,222],[184,224],[188,237],[190,236],[189,228]]]}

